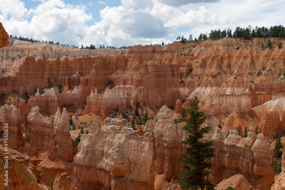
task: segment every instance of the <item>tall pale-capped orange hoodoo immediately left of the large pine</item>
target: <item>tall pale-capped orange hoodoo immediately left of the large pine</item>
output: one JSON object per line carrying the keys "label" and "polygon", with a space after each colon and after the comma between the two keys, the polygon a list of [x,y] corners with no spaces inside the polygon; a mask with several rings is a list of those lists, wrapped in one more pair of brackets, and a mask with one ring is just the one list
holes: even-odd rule
{"label": "tall pale-capped orange hoodoo immediately left of the large pine", "polygon": [[166,180],[171,180],[173,176],[178,177],[182,171],[182,161],[179,159],[183,153],[182,137],[183,129],[174,124],[173,111],[166,105],[162,106],[157,113],[158,121],[155,125],[155,152],[156,152],[156,172],[164,173]]}

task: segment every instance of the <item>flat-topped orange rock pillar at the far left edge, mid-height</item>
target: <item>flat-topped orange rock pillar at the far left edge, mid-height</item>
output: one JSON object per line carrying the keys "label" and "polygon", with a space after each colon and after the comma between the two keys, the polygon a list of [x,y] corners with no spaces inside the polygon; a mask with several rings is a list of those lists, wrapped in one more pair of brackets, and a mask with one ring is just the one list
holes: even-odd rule
{"label": "flat-topped orange rock pillar at the far left edge, mid-height", "polygon": [[[23,134],[21,126],[21,114],[16,106],[2,106],[0,109],[0,120],[2,123],[3,139],[8,138],[8,147],[12,149],[18,149],[23,143]],[[8,127],[7,127],[8,126]],[[5,132],[7,134],[5,134]],[[8,135],[6,137],[6,135]],[[5,143],[3,140],[2,147]]]}

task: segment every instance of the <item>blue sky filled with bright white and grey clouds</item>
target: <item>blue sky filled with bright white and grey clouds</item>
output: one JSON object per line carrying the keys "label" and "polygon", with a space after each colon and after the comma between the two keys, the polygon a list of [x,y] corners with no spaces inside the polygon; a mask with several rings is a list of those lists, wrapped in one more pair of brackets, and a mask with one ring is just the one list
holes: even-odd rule
{"label": "blue sky filled with bright white and grey clouds", "polygon": [[0,0],[0,22],[9,35],[98,47],[284,25],[284,11],[284,0]]}

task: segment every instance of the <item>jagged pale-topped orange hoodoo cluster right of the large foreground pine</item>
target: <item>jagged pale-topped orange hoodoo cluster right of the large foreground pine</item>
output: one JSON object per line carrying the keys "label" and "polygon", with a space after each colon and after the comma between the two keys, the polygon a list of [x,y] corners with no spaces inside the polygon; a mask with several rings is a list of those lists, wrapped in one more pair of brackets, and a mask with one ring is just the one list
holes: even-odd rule
{"label": "jagged pale-topped orange hoodoo cluster right of the large foreground pine", "polygon": [[256,135],[254,124],[250,121],[247,138],[239,136],[237,130],[231,130],[225,138],[221,129],[215,126],[211,115],[206,125],[212,129],[205,134],[205,140],[215,139],[215,157],[210,159],[212,168],[208,179],[219,183],[236,173],[241,173],[255,189],[270,189],[274,183],[272,166],[273,151],[268,147],[262,134]]}

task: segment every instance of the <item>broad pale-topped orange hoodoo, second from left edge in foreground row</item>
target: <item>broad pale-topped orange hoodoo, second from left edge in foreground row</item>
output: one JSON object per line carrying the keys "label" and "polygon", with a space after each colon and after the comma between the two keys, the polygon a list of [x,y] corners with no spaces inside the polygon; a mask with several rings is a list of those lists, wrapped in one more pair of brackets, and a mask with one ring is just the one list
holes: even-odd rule
{"label": "broad pale-topped orange hoodoo, second from left edge in foreground row", "polygon": [[55,146],[52,119],[40,114],[36,106],[32,107],[27,120],[29,132],[26,138],[31,146],[36,147],[37,150],[50,151],[51,146]]}

